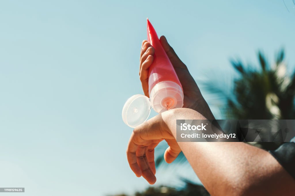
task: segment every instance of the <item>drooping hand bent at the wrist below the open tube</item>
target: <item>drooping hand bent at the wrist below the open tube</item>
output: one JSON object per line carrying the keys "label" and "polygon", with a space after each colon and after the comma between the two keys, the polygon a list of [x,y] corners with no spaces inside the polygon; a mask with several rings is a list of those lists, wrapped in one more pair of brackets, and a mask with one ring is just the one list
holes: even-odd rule
{"label": "drooping hand bent at the wrist below the open tube", "polygon": [[131,170],[137,177],[144,177],[150,184],[156,182],[155,147],[166,140],[169,147],[165,151],[164,159],[173,162],[181,152],[176,139],[163,121],[169,118],[173,111],[169,110],[140,124],[133,130],[127,147],[127,160]]}

